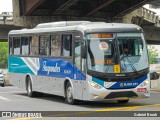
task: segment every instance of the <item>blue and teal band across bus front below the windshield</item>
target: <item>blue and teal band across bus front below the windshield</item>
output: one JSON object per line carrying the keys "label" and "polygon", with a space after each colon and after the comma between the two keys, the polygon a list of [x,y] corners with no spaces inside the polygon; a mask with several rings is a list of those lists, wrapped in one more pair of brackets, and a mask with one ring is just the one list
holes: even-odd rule
{"label": "blue and teal band across bus front below the windshield", "polygon": [[[129,88],[136,88],[138,85],[140,85],[144,80],[147,79],[147,76],[144,76],[140,79],[137,80],[127,80],[127,81],[122,81],[122,82],[116,82],[112,86],[110,86],[107,89],[129,89]],[[92,81],[100,84],[101,86],[104,86],[104,81],[97,79],[97,78],[92,78]]]}

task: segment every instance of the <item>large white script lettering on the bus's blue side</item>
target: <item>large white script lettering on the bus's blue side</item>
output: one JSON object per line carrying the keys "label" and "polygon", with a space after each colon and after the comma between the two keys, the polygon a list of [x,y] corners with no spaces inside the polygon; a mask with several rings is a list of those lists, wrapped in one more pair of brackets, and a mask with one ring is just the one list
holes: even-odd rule
{"label": "large white script lettering on the bus's blue side", "polygon": [[50,72],[60,72],[60,67],[58,67],[58,63],[56,63],[55,67],[47,66],[46,64],[47,64],[47,62],[44,61],[43,62],[43,69],[42,69],[42,71],[47,72],[48,75],[49,75]]}

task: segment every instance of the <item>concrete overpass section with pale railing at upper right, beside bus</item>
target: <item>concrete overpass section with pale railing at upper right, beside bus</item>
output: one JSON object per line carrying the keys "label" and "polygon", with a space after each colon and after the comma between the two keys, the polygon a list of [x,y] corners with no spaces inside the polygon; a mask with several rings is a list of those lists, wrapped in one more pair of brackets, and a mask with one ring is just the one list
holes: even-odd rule
{"label": "concrete overpass section with pale railing at upper right, beside bus", "polygon": [[141,26],[148,44],[160,44],[160,16],[157,16],[155,12],[140,7],[123,16],[122,21]]}

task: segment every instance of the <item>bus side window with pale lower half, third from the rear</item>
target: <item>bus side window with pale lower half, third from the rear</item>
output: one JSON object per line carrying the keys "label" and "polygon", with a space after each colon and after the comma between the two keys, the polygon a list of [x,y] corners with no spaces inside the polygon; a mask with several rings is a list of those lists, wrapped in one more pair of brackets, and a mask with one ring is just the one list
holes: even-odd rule
{"label": "bus side window with pale lower half, third from the rear", "polygon": [[29,55],[29,38],[28,36],[21,37],[22,55]]}

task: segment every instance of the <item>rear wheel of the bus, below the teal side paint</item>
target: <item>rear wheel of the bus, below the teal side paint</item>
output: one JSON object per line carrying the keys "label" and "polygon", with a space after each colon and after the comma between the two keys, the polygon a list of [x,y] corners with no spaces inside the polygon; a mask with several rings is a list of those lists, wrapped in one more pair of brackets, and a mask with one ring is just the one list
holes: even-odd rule
{"label": "rear wheel of the bus, below the teal side paint", "polygon": [[32,82],[30,77],[27,77],[27,94],[29,97],[36,97],[36,92],[32,91]]}

